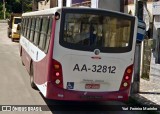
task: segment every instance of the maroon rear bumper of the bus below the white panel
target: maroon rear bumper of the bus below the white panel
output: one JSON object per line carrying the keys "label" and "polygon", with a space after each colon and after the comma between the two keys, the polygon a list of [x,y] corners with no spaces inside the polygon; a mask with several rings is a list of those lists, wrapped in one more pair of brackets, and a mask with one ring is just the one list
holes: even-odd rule
{"label": "maroon rear bumper of the bus below the white panel", "polygon": [[85,92],[57,88],[52,83],[48,83],[47,85],[46,98],[48,99],[69,101],[127,101],[129,97],[129,89],[115,92]]}

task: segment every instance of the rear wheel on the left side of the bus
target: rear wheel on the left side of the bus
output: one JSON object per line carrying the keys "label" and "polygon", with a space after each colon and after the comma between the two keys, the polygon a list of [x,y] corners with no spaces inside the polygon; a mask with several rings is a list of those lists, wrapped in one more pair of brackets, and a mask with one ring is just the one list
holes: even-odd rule
{"label": "rear wheel on the left side of the bus", "polygon": [[37,86],[34,83],[34,69],[33,69],[32,63],[31,63],[31,68],[30,68],[30,83],[33,89],[38,90]]}

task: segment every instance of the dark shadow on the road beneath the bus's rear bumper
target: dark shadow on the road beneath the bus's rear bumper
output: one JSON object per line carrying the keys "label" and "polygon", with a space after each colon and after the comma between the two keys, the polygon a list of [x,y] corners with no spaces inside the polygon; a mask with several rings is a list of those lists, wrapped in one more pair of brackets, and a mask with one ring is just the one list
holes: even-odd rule
{"label": "dark shadow on the road beneath the bus's rear bumper", "polygon": [[[41,94],[41,93],[40,93]],[[135,111],[122,111],[122,107],[127,107],[123,102],[78,102],[78,101],[57,101],[43,97],[53,114],[148,114],[146,112],[137,113]]]}

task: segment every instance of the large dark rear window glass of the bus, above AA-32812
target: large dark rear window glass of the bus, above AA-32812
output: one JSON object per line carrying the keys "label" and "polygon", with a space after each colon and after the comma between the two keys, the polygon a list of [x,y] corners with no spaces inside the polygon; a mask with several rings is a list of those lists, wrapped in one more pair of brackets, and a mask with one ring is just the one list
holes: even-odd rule
{"label": "large dark rear window glass of the bus, above AA-32812", "polygon": [[131,25],[131,20],[128,18],[90,13],[66,13],[64,27],[62,27],[64,28],[62,40],[64,44],[68,44],[68,48],[72,49],[80,46],[124,49],[129,48],[129,45],[131,48],[133,37],[133,33],[131,33],[133,26]]}

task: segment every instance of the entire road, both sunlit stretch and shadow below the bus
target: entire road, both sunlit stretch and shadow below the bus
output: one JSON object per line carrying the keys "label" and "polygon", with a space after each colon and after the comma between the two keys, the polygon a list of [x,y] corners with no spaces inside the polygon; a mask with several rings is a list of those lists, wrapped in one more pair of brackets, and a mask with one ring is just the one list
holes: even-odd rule
{"label": "entire road, both sunlit stretch and shadow below the bus", "polygon": [[[19,42],[11,42],[7,37],[7,23],[0,23],[0,105],[44,105],[49,109],[44,112],[23,112],[23,114],[146,114],[141,111],[106,111],[111,108],[110,106],[112,108],[116,105],[127,106],[122,102],[58,102],[43,98],[39,91],[30,87],[29,74],[19,57]],[[103,109],[99,107],[100,105]],[[4,112],[1,111],[0,114]]]}

